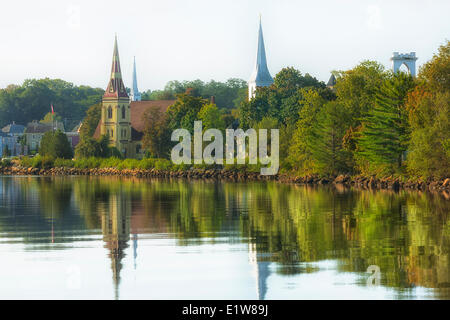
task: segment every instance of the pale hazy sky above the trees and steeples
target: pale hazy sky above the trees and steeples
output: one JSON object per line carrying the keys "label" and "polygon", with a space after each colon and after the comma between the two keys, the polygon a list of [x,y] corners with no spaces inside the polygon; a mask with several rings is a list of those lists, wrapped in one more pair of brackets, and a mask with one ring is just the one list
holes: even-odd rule
{"label": "pale hazy sky above the trees and steeples", "polygon": [[422,63],[450,39],[449,0],[4,1],[0,87],[61,78],[105,88],[117,33],[125,85],[136,56],[141,91],[169,80],[247,80],[262,14],[269,70],[293,66],[327,81],[331,70],[393,51]]}

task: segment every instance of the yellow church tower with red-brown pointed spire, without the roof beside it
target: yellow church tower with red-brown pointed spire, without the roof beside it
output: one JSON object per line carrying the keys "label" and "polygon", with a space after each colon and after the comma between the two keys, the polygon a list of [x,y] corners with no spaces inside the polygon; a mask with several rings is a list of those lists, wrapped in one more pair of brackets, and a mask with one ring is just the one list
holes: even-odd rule
{"label": "yellow church tower with red-brown pointed spire, without the roof beside it", "polygon": [[120,69],[117,36],[114,41],[114,53],[111,77],[102,99],[101,134],[109,136],[109,145],[116,147],[125,157],[133,156],[131,145],[130,98],[123,84]]}

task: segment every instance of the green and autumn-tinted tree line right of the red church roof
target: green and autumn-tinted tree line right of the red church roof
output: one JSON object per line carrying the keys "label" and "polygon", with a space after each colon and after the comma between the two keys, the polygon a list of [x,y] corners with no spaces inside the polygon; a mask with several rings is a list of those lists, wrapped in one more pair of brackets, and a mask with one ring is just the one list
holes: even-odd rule
{"label": "green and autumn-tinted tree line right of the red church roof", "polygon": [[247,128],[280,129],[283,171],[300,175],[450,176],[450,42],[413,78],[375,61],[335,71],[336,84],[294,68],[282,69],[256,97],[241,100],[228,116],[217,104],[188,89],[163,114],[148,112],[144,147],[168,157],[170,132],[224,130],[239,120]]}

